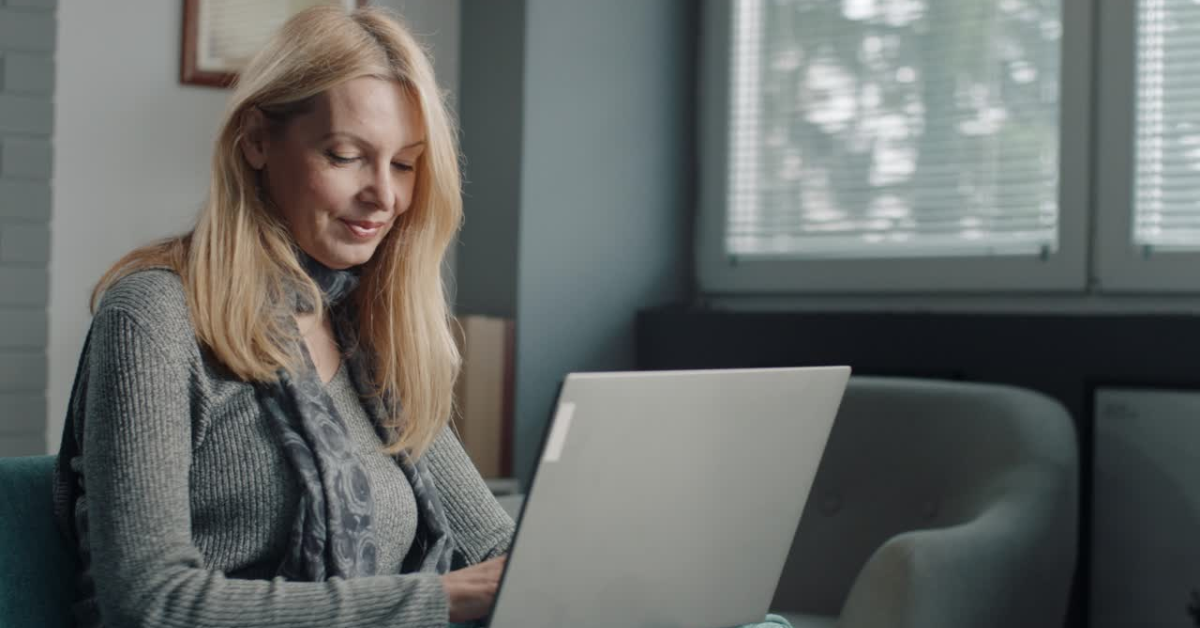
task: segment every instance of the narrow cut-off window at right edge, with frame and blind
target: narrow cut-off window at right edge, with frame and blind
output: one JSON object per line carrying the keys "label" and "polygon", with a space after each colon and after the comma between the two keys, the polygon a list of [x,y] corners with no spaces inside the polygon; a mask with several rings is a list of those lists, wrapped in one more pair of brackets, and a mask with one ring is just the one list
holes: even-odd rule
{"label": "narrow cut-off window at right edge, with frame and blind", "polygon": [[1200,291],[1200,5],[1099,12],[1096,282]]}

